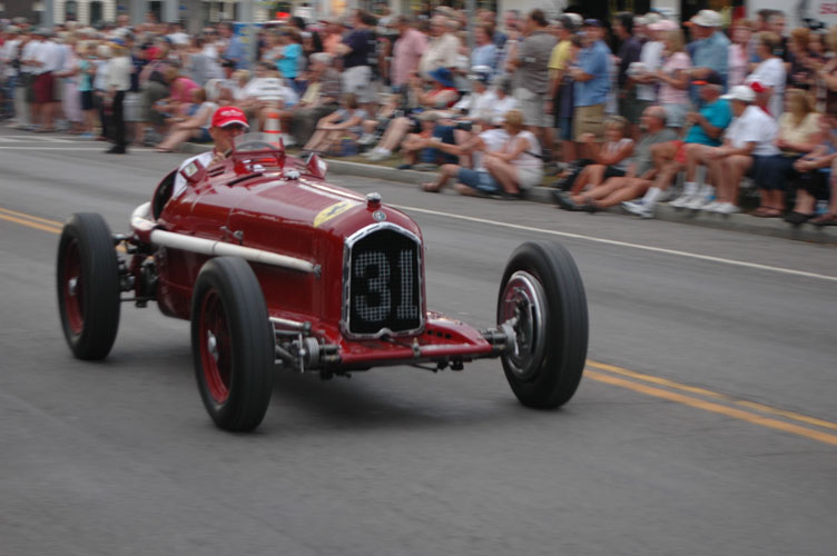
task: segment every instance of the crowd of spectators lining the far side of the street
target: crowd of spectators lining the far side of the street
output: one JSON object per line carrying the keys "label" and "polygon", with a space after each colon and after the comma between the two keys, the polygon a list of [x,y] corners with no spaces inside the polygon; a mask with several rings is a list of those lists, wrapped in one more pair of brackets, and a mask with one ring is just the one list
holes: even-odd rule
{"label": "crowd of spectators lining the far side of the street", "polygon": [[435,171],[426,191],[518,198],[558,173],[561,208],[650,218],[669,196],[738,212],[746,180],[754,216],[835,225],[837,28],[785,27],[776,10],[727,28],[711,10],[682,24],[656,12],[608,24],[538,9],[472,21],[444,7],[355,10],[264,27],[250,60],[226,22],[193,36],[125,16],[99,29],[13,21],[0,108],[124,153],[209,141],[214,111],[235,105],[286,147]]}

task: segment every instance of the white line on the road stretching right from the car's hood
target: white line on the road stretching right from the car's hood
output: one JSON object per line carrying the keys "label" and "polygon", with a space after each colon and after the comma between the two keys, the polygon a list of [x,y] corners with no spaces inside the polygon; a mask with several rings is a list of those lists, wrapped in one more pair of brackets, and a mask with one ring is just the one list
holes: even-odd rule
{"label": "white line on the road stretching right from the car's hood", "polygon": [[758,262],[747,262],[744,260],[725,259],[722,257],[711,257],[709,255],[700,255],[697,252],[678,251],[676,249],[666,249],[663,247],[651,247],[651,246],[639,245],[639,244],[629,244],[627,241],[618,241],[616,239],[597,238],[593,236],[584,236],[582,234],[572,234],[569,231],[548,230],[544,228],[534,228],[532,226],[523,226],[520,224],[501,222],[498,220],[489,220],[486,218],[476,218],[473,216],[454,215],[451,212],[441,212],[439,210],[430,210],[430,209],[423,209],[423,208],[417,208],[417,207],[405,207],[403,205],[390,205],[390,206],[401,209],[401,210],[413,210],[415,212],[423,212],[425,215],[443,216],[447,218],[454,218],[457,220],[466,220],[470,222],[488,224],[491,226],[501,226],[501,227],[511,228],[514,230],[533,231],[536,234],[561,236],[561,237],[572,238],[572,239],[583,239],[585,241],[594,241],[597,244],[605,244],[605,245],[612,245],[612,246],[619,246],[619,247],[630,247],[632,249],[641,249],[643,251],[661,252],[664,255],[674,255],[678,257],[687,257],[690,259],[707,260],[710,262],[720,262],[723,265],[732,265],[732,266],[745,267],[745,268],[755,268],[758,270],[768,270],[771,272],[779,272],[779,274],[791,275],[791,276],[802,276],[805,278],[816,278],[818,280],[827,280],[827,281],[837,282],[837,276],[807,272],[805,270],[795,270],[792,268],[771,267],[769,265],[759,265]]}

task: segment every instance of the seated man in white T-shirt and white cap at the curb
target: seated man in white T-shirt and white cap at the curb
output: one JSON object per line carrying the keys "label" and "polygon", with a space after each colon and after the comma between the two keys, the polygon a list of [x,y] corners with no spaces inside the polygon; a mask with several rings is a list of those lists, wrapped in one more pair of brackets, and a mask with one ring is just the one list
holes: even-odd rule
{"label": "seated man in white T-shirt and white cap at the curb", "polygon": [[767,112],[754,105],[756,92],[746,85],[733,87],[721,97],[730,102],[735,119],[727,128],[723,145],[707,153],[707,162],[716,177],[716,200],[702,210],[731,215],[739,212],[738,185],[744,176],[758,181],[760,159],[779,153],[776,135],[779,126]]}

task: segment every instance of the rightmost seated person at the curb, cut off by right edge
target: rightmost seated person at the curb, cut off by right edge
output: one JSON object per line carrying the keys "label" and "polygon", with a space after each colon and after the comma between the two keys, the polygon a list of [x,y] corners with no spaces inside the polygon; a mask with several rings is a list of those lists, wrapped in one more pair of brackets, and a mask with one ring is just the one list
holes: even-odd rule
{"label": "rightmost seated person at the curb, cut off by right edge", "polygon": [[[790,92],[790,91],[788,91]],[[810,221],[816,226],[837,225],[837,187],[835,187],[834,165],[837,161],[837,137],[834,116],[819,119],[820,132],[825,137],[821,145],[794,162],[794,169],[799,177],[794,180],[796,189],[796,206],[788,212],[785,221],[794,226]],[[830,195],[829,195],[830,189]],[[818,200],[829,199],[829,211],[817,216],[815,212]]]}

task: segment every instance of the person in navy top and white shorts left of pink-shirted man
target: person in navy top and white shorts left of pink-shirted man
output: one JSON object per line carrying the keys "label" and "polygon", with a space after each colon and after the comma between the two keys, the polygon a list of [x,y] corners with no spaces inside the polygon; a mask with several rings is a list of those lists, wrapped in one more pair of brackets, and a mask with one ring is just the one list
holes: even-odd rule
{"label": "person in navy top and white shorts left of pink-shirted man", "polygon": [[372,87],[372,67],[370,54],[373,53],[374,34],[370,29],[371,16],[363,10],[352,14],[353,30],[337,47],[343,57],[343,93],[352,93],[364,108],[374,100]]}

